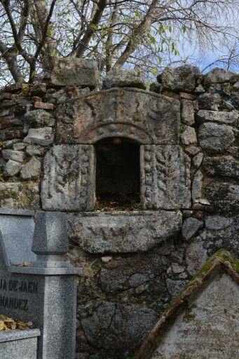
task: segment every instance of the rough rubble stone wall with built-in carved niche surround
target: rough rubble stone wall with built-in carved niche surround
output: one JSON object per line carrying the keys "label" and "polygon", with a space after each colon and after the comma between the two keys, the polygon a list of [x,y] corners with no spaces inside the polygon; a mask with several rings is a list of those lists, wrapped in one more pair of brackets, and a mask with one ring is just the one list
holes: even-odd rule
{"label": "rough rubble stone wall with built-in carved niche surround", "polygon": [[[239,76],[186,65],[150,91],[123,72],[97,91],[90,69],[1,91],[0,205],[67,212],[67,259],[83,266],[76,358],[128,359],[210,255],[238,257]],[[141,145],[138,210],[95,210],[108,137]]]}

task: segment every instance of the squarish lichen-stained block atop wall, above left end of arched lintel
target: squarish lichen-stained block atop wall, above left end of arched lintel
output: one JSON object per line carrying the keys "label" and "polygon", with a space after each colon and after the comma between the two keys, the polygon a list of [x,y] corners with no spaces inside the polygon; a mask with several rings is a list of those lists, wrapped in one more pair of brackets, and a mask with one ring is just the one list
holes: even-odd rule
{"label": "squarish lichen-stained block atop wall, above left end of arched lintel", "polygon": [[65,57],[55,61],[51,82],[56,86],[88,86],[95,88],[99,80],[97,62],[90,59]]}

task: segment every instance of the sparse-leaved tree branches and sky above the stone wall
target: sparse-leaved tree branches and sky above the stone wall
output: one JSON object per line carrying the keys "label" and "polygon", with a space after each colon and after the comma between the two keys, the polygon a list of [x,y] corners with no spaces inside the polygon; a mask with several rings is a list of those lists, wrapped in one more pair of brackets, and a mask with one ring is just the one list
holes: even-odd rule
{"label": "sparse-leaved tree branches and sky above the stone wall", "polygon": [[187,60],[178,49],[185,43],[217,51],[226,45],[231,65],[238,59],[238,4],[0,0],[0,81],[32,82],[41,72],[50,72],[55,57],[62,56],[94,58],[102,72],[140,66],[155,76],[158,68]]}

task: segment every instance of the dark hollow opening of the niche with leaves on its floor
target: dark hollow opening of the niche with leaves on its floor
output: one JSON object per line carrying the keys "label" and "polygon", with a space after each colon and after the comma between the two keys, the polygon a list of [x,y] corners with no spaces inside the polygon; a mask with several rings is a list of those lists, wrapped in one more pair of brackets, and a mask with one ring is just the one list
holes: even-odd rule
{"label": "dark hollow opening of the niche with leaves on its floor", "polygon": [[110,137],[95,144],[96,208],[136,210],[140,205],[140,146]]}

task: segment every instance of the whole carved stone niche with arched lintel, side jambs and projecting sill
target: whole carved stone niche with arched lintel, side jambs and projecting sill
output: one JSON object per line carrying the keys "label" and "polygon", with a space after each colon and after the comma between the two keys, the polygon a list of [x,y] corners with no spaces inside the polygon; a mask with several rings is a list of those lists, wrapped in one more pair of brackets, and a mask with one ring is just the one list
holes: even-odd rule
{"label": "whole carved stone niche with arched lintel, side jambs and projecting sill", "polygon": [[[178,100],[135,88],[62,104],[44,159],[43,209],[69,212],[69,238],[91,253],[142,252],[177,235],[179,210],[191,206],[179,115]],[[99,211],[102,198],[110,212],[105,203]]]}

